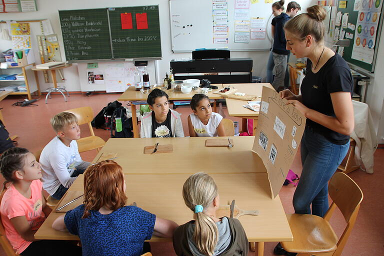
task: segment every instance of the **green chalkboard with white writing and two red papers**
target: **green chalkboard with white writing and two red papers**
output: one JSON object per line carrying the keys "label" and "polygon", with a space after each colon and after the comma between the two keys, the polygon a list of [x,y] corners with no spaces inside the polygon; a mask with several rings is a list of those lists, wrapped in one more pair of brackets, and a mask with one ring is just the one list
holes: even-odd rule
{"label": "green chalkboard with white writing and two red papers", "polygon": [[158,5],[58,13],[66,60],[161,57]]}

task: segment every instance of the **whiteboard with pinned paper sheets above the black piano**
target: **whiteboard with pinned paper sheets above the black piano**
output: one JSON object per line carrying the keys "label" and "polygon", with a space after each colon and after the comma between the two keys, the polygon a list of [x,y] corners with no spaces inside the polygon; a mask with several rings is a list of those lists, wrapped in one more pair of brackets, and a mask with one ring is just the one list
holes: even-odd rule
{"label": "whiteboard with pinned paper sheets above the black piano", "polygon": [[[241,2],[247,4],[248,8],[235,8],[235,4]],[[269,50],[272,3],[265,3],[263,0],[252,2],[254,1],[169,0],[172,51],[190,52],[196,48],[225,47],[231,51]],[[219,3],[223,5],[219,6]],[[248,42],[235,42],[246,41],[247,37]]]}

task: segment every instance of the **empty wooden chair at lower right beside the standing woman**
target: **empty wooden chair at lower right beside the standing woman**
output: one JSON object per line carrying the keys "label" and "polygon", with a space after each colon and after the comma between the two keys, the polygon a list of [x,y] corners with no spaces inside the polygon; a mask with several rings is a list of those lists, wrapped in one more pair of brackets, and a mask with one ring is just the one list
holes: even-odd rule
{"label": "empty wooden chair at lower right beside the standing woman", "polygon": [[[329,195],[333,202],[321,218],[311,214],[287,214],[293,234],[293,241],[281,242],[289,252],[298,252],[297,256],[339,256],[356,221],[357,212],[363,194],[358,185],[345,173],[336,172],[329,181]],[[346,227],[337,238],[329,219],[336,208],[341,211]]]}

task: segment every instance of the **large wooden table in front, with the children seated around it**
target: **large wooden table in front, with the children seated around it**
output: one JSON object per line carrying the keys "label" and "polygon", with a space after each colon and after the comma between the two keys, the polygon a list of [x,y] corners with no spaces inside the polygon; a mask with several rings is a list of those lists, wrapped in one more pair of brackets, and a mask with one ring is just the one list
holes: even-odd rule
{"label": "large wooden table in front, with the children seated around it", "polygon": [[[241,216],[239,220],[248,240],[258,242],[258,255],[262,255],[264,241],[290,241],[292,233],[279,197],[271,198],[267,174],[260,173],[260,166],[263,166],[260,159],[250,151],[254,137],[231,138],[234,140],[232,148],[207,148],[204,146],[206,138],[201,137],[112,138],[95,159],[103,152],[118,152],[116,161],[124,169],[127,204],[135,201],[137,206],[178,224],[193,217],[192,211],[183,202],[182,184],[191,173],[209,173],[218,186],[220,204],[235,199],[236,205],[244,210],[260,211],[258,216]],[[171,143],[173,152],[144,155],[142,147],[155,141]],[[133,147],[136,150],[129,150]],[[66,196],[73,196],[76,191],[83,191],[82,175],[70,186],[62,200],[70,199]],[[81,201],[75,203],[78,205]],[[52,211],[35,233],[35,238],[78,240],[77,236],[51,228],[53,220],[60,214]],[[150,239],[170,240],[155,236]]]}

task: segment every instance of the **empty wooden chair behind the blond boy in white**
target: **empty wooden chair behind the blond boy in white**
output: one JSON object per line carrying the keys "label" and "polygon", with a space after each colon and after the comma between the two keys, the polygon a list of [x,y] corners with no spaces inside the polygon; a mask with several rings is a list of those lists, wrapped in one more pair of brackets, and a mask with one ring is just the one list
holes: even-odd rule
{"label": "empty wooden chair behind the blond boy in white", "polygon": [[93,119],[92,108],[90,106],[83,106],[65,110],[65,112],[73,113],[77,117],[78,125],[84,123],[88,124],[91,135],[77,139],[78,151],[84,152],[92,149],[97,149],[97,151],[100,151],[99,148],[105,144],[105,141],[102,138],[94,135],[92,125],[90,124]]}

